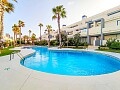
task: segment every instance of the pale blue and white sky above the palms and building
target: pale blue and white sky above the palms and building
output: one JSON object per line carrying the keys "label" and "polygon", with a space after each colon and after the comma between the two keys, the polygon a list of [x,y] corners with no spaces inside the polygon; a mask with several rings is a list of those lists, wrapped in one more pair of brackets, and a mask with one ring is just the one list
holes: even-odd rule
{"label": "pale blue and white sky above the palms and building", "polygon": [[17,0],[18,3],[9,1],[14,4],[15,10],[14,13],[4,15],[4,35],[9,33],[13,36],[12,26],[22,20],[25,22],[22,34],[28,35],[31,30],[37,37],[39,23],[43,24],[42,34],[46,25],[57,30],[57,20],[52,20],[52,8],[58,5],[63,5],[67,12],[67,18],[61,19],[61,26],[78,22],[83,15],[90,17],[120,5],[120,0]]}

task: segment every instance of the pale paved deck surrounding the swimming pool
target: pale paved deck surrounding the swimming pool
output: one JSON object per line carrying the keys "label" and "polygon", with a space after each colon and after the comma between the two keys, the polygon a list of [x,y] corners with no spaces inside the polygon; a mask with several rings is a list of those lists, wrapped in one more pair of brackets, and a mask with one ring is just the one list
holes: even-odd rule
{"label": "pale paved deck surrounding the swimming pool", "polygon": [[[34,53],[32,49],[21,49],[23,56]],[[50,48],[56,50],[57,48]],[[68,49],[59,49],[68,50]],[[100,52],[120,58],[120,54]],[[0,90],[120,90],[120,71],[97,76],[64,76],[38,72],[20,64],[15,54],[0,57]]]}

